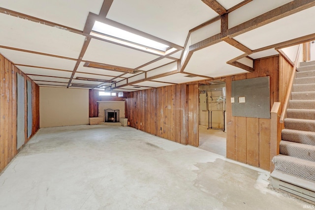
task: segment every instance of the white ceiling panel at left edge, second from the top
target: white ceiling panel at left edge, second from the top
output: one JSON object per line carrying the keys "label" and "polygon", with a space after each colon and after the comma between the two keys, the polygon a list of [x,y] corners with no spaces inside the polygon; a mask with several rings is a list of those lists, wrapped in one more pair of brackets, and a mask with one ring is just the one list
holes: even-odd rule
{"label": "white ceiling panel at left edge, second from the top", "polygon": [[85,36],[0,14],[0,45],[77,59]]}

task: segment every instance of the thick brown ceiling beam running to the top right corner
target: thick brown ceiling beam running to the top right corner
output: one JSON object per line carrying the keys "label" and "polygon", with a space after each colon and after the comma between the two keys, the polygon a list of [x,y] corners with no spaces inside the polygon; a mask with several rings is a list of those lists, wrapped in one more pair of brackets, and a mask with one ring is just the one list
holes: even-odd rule
{"label": "thick brown ceiling beam running to the top right corner", "polygon": [[294,0],[280,7],[270,10],[262,15],[259,15],[249,21],[246,21],[238,26],[227,30],[228,37],[232,38],[250,30],[257,29],[266,24],[277,21],[304,9],[315,6],[315,0]]}

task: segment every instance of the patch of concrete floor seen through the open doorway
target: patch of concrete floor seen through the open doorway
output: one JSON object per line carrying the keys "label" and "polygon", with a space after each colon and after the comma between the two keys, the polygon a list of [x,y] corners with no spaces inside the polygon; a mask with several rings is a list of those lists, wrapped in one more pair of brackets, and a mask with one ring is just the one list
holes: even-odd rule
{"label": "patch of concrete floor seen through the open doorway", "polygon": [[226,157],[226,133],[222,130],[208,129],[199,125],[199,147]]}

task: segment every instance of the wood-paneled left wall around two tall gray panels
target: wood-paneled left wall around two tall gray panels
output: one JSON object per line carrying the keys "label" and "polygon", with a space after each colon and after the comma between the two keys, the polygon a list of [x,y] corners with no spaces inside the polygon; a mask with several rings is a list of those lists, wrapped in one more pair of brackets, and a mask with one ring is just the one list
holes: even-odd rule
{"label": "wood-paneled left wall around two tall gray panels", "polygon": [[[16,150],[17,79],[24,76],[25,87],[30,80],[9,60],[0,55],[0,172],[18,153]],[[39,129],[39,87],[32,82],[32,135],[27,139],[27,89],[25,88],[25,144]]]}

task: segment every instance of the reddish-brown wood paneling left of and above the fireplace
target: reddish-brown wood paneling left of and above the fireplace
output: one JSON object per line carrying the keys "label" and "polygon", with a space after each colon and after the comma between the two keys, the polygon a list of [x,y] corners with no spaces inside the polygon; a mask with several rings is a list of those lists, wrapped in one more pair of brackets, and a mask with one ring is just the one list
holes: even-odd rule
{"label": "reddish-brown wood paneling left of and above the fireplace", "polygon": [[[89,118],[98,117],[97,101],[123,101],[123,97],[118,96],[99,96],[98,90],[89,90]],[[126,116],[126,115],[125,115]]]}

